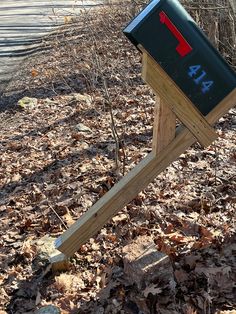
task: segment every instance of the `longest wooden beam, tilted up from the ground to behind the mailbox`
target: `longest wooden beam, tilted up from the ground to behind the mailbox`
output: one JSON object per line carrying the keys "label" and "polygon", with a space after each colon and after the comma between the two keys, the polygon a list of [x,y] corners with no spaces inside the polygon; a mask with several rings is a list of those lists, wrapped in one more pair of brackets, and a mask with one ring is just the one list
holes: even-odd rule
{"label": "longest wooden beam, tilted up from the ground to behind the mailbox", "polygon": [[[217,122],[235,104],[236,89],[206,116],[208,123],[212,125]],[[179,127],[174,140],[158,156],[151,152],[144,158],[56,240],[56,248],[66,256],[72,256],[83,243],[94,236],[112,216],[127,205],[195,141],[195,137],[187,128]]]}

